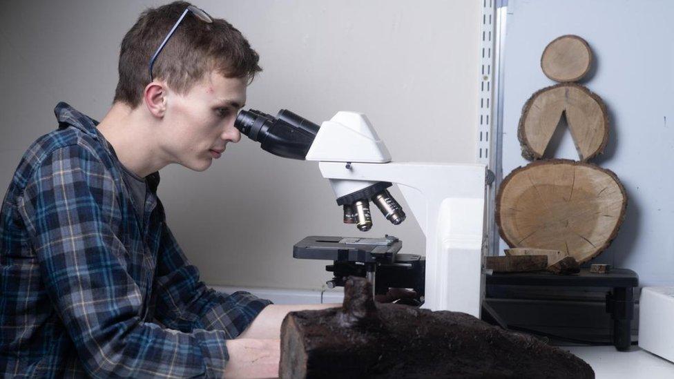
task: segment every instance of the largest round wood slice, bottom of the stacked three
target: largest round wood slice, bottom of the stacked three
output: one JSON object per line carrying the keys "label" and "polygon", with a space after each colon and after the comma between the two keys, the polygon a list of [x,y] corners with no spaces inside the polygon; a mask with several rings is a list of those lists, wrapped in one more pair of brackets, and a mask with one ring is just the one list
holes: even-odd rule
{"label": "largest round wood slice, bottom of the stacked three", "polygon": [[625,189],[613,172],[550,159],[519,167],[503,179],[496,220],[510,247],[560,250],[582,263],[615,238],[626,206]]}

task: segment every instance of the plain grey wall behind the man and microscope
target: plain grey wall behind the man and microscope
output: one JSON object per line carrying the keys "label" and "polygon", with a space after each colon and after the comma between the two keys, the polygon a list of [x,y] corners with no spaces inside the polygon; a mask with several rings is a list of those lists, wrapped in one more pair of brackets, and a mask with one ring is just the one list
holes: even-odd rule
{"label": "plain grey wall behind the man and microscope", "polygon": [[[67,101],[105,115],[119,42],[160,1],[0,1],[0,184],[23,150],[56,127]],[[195,1],[247,36],[264,72],[248,106],[315,122],[366,113],[397,161],[475,162],[479,1]],[[400,193],[393,192],[401,200]],[[242,140],[205,173],[162,170],[168,224],[211,284],[315,289],[326,262],[293,260],[307,235],[394,234],[423,253],[409,217],[375,215],[360,233],[315,163],[279,159]],[[404,206],[404,204],[403,204]]]}

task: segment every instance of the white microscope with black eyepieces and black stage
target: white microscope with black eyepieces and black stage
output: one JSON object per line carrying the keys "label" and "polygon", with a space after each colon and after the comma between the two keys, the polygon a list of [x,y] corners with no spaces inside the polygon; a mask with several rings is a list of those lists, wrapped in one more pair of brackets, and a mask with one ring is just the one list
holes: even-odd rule
{"label": "white microscope with black eyepieces and black stage", "polygon": [[[320,173],[344,208],[344,222],[356,224],[360,231],[372,226],[370,201],[392,224],[405,220],[401,206],[386,189],[397,184],[426,238],[423,307],[480,317],[487,173],[483,164],[392,162],[367,117],[355,112],[339,112],[318,126],[288,110],[280,110],[276,117],[242,110],[235,126],[274,155],[318,161]],[[350,254],[348,260],[357,255],[369,262],[367,257],[395,254],[401,246],[389,236],[322,238],[314,238],[312,246],[300,246],[302,257],[326,259],[316,254],[329,253],[337,263],[337,257]],[[363,258],[365,252],[370,254]],[[372,260],[365,266],[376,264]],[[374,288],[374,273],[367,271]]]}

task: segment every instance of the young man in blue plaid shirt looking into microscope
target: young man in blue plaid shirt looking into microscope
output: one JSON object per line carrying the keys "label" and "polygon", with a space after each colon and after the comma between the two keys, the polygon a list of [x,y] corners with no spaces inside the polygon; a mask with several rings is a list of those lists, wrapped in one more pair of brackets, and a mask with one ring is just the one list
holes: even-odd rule
{"label": "young man in blue plaid shirt looking into microscope", "polygon": [[57,105],[58,130],[28,148],[0,211],[0,372],[276,376],[282,318],[329,305],[206,288],[156,195],[164,166],[204,171],[239,141],[234,120],[258,71],[238,30],[179,1],[124,37],[100,123]]}

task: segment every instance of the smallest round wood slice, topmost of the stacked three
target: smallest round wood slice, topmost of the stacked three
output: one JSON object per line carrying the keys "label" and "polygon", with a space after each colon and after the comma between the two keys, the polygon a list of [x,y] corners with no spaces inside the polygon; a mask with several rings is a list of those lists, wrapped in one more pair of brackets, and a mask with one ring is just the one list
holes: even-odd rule
{"label": "smallest round wood slice, topmost of the stacked three", "polygon": [[554,81],[577,81],[590,70],[592,50],[577,35],[563,35],[548,43],[541,56],[541,68]]}

